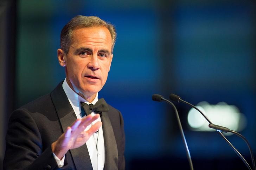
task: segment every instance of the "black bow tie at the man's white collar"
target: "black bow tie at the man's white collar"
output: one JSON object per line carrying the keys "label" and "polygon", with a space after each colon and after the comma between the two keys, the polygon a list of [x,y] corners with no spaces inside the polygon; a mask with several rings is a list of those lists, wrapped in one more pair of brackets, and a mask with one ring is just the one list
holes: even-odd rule
{"label": "black bow tie at the man's white collar", "polygon": [[101,114],[102,112],[109,111],[108,104],[105,102],[104,98],[101,98],[95,104],[87,104],[87,103],[81,102],[81,110],[82,110],[82,113],[81,113],[82,117],[85,115],[89,115],[92,112]]}

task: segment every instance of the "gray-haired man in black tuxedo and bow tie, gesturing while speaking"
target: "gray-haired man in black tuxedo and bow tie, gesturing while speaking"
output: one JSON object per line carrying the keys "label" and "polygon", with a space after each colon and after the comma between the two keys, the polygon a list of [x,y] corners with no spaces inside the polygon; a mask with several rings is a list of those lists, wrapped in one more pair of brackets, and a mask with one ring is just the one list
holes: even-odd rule
{"label": "gray-haired man in black tuxedo and bow tie, gesturing while speaking", "polygon": [[122,115],[98,100],[115,39],[113,25],[95,16],[64,26],[57,54],[66,79],[12,113],[4,169],[124,169]]}

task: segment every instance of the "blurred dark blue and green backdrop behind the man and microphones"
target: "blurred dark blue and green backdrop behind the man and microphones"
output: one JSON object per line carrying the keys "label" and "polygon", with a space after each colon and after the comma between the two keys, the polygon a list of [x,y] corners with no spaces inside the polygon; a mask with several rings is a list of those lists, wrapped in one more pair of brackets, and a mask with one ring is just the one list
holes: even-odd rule
{"label": "blurred dark blue and green backdrop behind the man and microphones", "polygon": [[[232,130],[256,152],[255,1],[2,0],[1,163],[11,112],[65,78],[57,61],[59,35],[76,15],[99,16],[117,29],[114,59],[99,97],[123,114],[126,169],[189,169],[173,109],[152,101],[154,93],[165,98],[175,93],[194,105],[207,101],[202,108],[213,123],[222,120],[219,125],[229,123],[230,129],[236,124]],[[228,107],[219,109],[219,102]],[[174,104],[194,169],[246,169],[217,132],[200,129],[206,121],[197,122],[199,113],[188,122],[191,108]],[[244,141],[226,137],[251,165]]]}

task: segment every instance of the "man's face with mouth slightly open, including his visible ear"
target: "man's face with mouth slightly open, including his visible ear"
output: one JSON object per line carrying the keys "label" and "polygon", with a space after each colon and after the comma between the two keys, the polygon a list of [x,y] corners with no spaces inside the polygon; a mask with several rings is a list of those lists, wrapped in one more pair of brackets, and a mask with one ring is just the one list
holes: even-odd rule
{"label": "man's face with mouth slightly open, including his visible ear", "polygon": [[92,101],[107,81],[113,54],[107,28],[78,28],[68,54],[58,49],[58,59],[65,66],[69,86],[87,101]]}

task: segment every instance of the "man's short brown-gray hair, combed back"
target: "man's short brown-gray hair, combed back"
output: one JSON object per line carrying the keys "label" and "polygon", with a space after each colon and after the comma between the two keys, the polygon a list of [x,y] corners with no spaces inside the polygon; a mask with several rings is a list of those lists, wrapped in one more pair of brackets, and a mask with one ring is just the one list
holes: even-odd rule
{"label": "man's short brown-gray hair, combed back", "polygon": [[63,28],[60,33],[60,48],[64,51],[65,54],[68,54],[69,47],[73,40],[73,31],[77,28],[86,28],[86,27],[105,27],[108,28],[111,39],[112,39],[112,49],[113,52],[115,41],[116,41],[116,29],[115,27],[97,16],[82,16],[77,15],[72,18]]}

